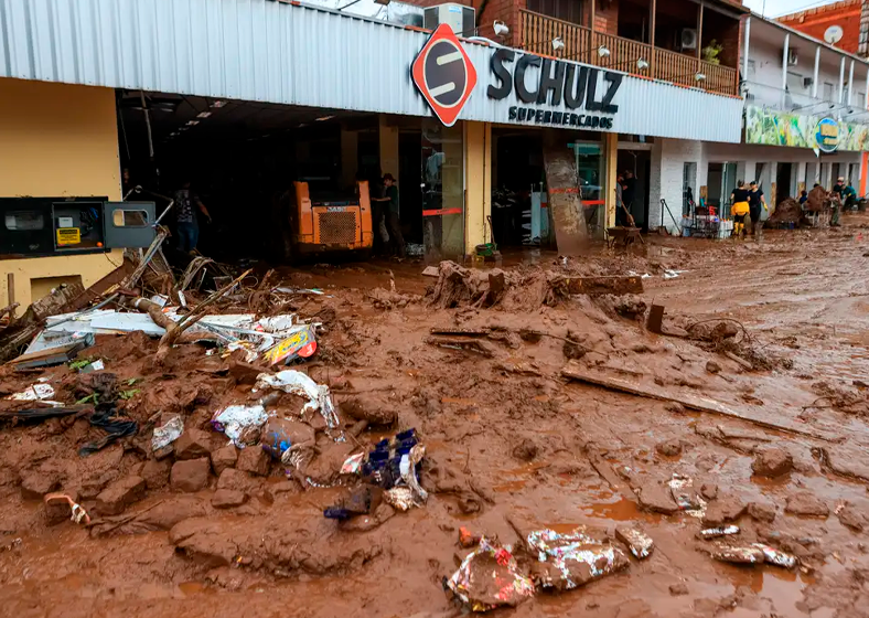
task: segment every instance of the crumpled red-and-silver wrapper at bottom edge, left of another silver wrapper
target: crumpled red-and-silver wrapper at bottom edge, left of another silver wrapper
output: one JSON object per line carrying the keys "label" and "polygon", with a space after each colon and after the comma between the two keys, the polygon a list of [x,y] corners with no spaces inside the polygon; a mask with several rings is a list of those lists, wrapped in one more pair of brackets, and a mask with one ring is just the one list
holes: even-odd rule
{"label": "crumpled red-and-silver wrapper at bottom edge, left of another silver wrapper", "polygon": [[472,611],[516,607],[534,596],[534,583],[519,573],[509,550],[495,545],[485,536],[462,561],[447,586]]}

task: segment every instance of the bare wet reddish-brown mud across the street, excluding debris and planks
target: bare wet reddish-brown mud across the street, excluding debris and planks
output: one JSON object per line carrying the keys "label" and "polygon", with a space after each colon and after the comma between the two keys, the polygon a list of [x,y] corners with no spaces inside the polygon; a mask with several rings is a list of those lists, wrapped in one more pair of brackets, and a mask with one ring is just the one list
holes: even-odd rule
{"label": "bare wet reddish-brown mud across the street, excluding debris and planks", "polygon": [[[611,533],[616,525],[630,524],[656,543],[648,560],[632,561],[627,571],[580,590],[541,594],[513,610],[515,616],[861,615],[848,611],[859,607],[860,595],[866,594],[861,582],[869,575],[869,539],[866,532],[845,528],[835,511],[849,503],[869,515],[866,483],[832,473],[815,454],[824,447],[862,461],[869,426],[860,415],[805,406],[818,397],[812,387],[815,382],[846,386],[869,376],[869,283],[865,276],[869,258],[862,257],[869,243],[855,239],[858,226],[866,223],[851,217],[843,231],[770,233],[760,246],[653,237],[650,246],[637,247],[624,258],[624,268],[652,274],[644,280],[647,301],[662,302],[668,312],[689,313],[696,320],[737,319],[760,347],[794,363],[791,370],[751,374],[688,342],[643,333],[629,321],[608,318],[582,301],[532,313],[443,311],[422,305],[384,312],[366,300],[366,290],[389,289],[391,279],[401,294],[421,294],[433,279],[420,277],[421,268],[415,264],[286,269],[288,284],[323,288],[329,298],[312,302],[330,303],[340,316],[340,323],[322,344],[347,360],[343,364],[326,361],[312,369],[312,374],[319,371],[317,375],[328,375],[330,381],[348,381],[360,396],[379,393],[398,409],[403,427],[415,426],[423,436],[428,445],[423,484],[431,492],[427,505],[397,513],[369,532],[350,532],[321,516],[340,490],[296,490],[271,500],[254,499],[225,512],[208,505],[212,479],[211,487],[197,494],[206,504],[203,519],[215,524],[212,540],[232,543],[242,558],[215,567],[202,556],[176,551],[164,531],[92,539],[69,522],[46,525],[39,501],[21,498],[19,476],[56,462],[72,489],[84,473],[71,435],[78,429],[3,429],[3,615],[455,616],[458,610],[444,597],[441,580],[465,553],[457,544],[459,526],[515,544],[507,518],[523,531],[567,532],[587,525]],[[555,254],[546,252],[507,257],[506,267],[557,262]],[[622,258],[592,253],[587,259],[610,264]],[[663,268],[685,273],[665,280]],[[656,377],[674,392],[701,394],[739,409],[750,407],[769,422],[788,420],[836,434],[844,441],[823,443],[696,412],[673,413],[663,402],[566,383],[558,374],[565,362],[558,340],[498,349],[500,356],[493,361],[425,343],[430,327],[457,322],[534,327],[557,335],[570,328],[588,335],[594,356],[608,366],[623,367],[650,382]],[[637,342],[651,352],[635,351]],[[494,369],[501,355],[534,362],[540,376]],[[717,376],[705,371],[710,359],[722,366]],[[122,365],[121,360],[117,362]],[[142,373],[140,364],[135,371]],[[185,376],[181,369],[176,374]],[[161,375],[160,380],[172,379]],[[146,381],[144,385],[158,383],[162,382]],[[340,401],[340,391],[336,396]],[[146,418],[152,411],[147,412]],[[194,406],[189,423],[206,422],[210,413],[208,405]],[[709,437],[714,435],[710,428],[719,439]],[[366,433],[361,440],[373,444],[389,434]],[[673,440],[680,445],[678,455],[657,452],[657,445]],[[529,444],[534,449],[526,448]],[[794,470],[776,479],[755,475],[752,450],[769,446],[788,449]],[[603,472],[587,457],[591,451],[600,454]],[[119,461],[116,467],[126,475],[141,457],[130,449]],[[625,468],[634,472],[635,481],[619,476],[616,470]],[[689,476],[695,488],[717,486],[719,499],[774,504],[772,523],[743,515],[740,537],[750,542],[771,532],[811,537],[816,542],[798,547],[811,569],[790,572],[712,561],[709,544],[696,537],[701,528],[697,519],[643,510],[631,487],[663,483],[674,473]],[[277,467],[271,475],[260,480],[265,491],[283,480]],[[788,497],[800,491],[818,497],[830,514],[786,514]],[[146,501],[130,511],[171,498],[167,490],[149,491]],[[471,502],[475,507],[469,508]],[[20,544],[12,543],[15,539],[21,539]],[[345,547],[353,543],[358,544],[356,553],[346,554]],[[6,546],[9,550],[2,551]],[[363,554],[368,557],[358,557]],[[687,594],[670,592],[679,584],[685,584]]]}

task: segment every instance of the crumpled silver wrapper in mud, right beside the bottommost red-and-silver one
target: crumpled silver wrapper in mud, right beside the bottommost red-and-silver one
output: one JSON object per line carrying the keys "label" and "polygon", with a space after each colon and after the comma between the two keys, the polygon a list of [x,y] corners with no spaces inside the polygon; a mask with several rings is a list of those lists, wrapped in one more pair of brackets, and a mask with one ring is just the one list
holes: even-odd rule
{"label": "crumpled silver wrapper in mud, right beside the bottommost red-and-silver one", "polygon": [[624,552],[588,534],[584,526],[567,534],[538,530],[529,533],[527,541],[540,561],[535,577],[547,588],[570,590],[630,564]]}

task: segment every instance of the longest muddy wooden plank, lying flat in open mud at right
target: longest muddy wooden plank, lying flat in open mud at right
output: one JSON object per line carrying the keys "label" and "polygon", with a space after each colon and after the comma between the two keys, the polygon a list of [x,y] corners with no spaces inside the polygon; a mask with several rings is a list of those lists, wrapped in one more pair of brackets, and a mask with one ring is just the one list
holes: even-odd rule
{"label": "longest muddy wooden plank, lying flat in open mud at right", "polygon": [[729,418],[737,418],[739,420],[744,420],[747,423],[751,423],[753,425],[758,425],[759,427],[764,427],[766,429],[773,429],[776,431],[786,431],[788,434],[796,434],[800,436],[808,436],[811,438],[815,438],[828,443],[838,443],[844,440],[844,438],[840,436],[833,436],[822,431],[804,429],[802,427],[796,427],[792,424],[783,425],[777,423],[771,423],[769,420],[764,420],[763,418],[758,418],[755,416],[752,416],[750,413],[729,408],[721,402],[709,399],[707,397],[700,397],[697,395],[688,395],[683,393],[672,393],[656,385],[639,384],[636,382],[631,382],[627,380],[622,380],[619,377],[613,377],[610,375],[603,375],[601,373],[591,372],[578,365],[577,363],[572,363],[572,362],[568,363],[561,370],[561,375],[570,380],[586,382],[587,384],[594,384],[596,386],[602,386],[604,388],[610,388],[613,391],[621,391],[623,393],[637,395],[640,397],[648,397],[651,399],[658,399],[663,402],[679,403],[690,409],[696,409],[698,412],[705,412],[708,414],[718,414],[720,416],[727,416]]}

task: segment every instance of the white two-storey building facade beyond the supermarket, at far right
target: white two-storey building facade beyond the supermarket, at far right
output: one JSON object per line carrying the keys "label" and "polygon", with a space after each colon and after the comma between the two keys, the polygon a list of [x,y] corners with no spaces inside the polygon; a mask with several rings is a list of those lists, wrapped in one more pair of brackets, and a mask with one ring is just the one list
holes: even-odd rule
{"label": "white two-storey building facade beyond the supermarket, at far right", "polygon": [[687,213],[688,190],[727,212],[739,180],[757,180],[775,204],[815,183],[830,189],[838,177],[866,194],[869,63],[752,15],[743,21],[740,64],[742,142],[654,143],[650,226],[673,226],[655,211],[662,198],[675,215]]}

